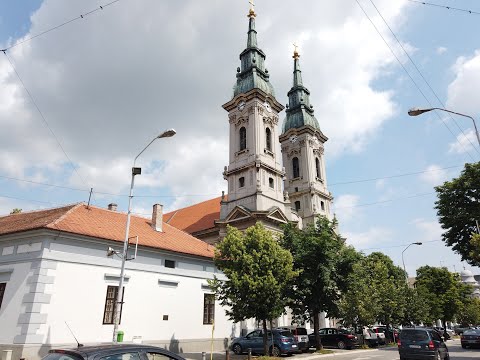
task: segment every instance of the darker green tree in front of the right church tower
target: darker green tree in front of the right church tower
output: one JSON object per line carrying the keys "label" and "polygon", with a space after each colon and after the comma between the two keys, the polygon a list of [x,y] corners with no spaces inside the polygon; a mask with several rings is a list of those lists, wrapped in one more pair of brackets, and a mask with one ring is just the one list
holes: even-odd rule
{"label": "darker green tree in front of the right church tower", "polygon": [[303,230],[288,224],[281,238],[282,246],[293,255],[295,269],[300,271],[289,294],[289,307],[300,323],[313,318],[317,350],[322,348],[319,315],[338,313],[338,300],[357,257],[337,234],[336,225],[326,217]]}

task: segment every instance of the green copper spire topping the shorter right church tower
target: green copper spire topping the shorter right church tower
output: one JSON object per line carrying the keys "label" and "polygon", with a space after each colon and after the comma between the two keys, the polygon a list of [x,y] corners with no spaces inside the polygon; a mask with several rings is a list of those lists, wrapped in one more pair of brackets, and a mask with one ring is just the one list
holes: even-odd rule
{"label": "green copper spire topping the shorter right church tower", "polygon": [[313,114],[313,105],[310,104],[310,91],[302,83],[299,58],[300,55],[295,51],[293,54],[293,86],[288,92],[288,106],[285,110],[287,117],[283,122],[283,134],[290,129],[298,129],[307,125],[320,131],[318,120]]}

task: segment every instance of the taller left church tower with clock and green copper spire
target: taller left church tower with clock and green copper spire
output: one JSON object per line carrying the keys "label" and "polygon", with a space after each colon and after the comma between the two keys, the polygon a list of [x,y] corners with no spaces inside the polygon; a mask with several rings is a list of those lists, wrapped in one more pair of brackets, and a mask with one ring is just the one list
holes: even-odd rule
{"label": "taller left church tower with clock and green copper spire", "polygon": [[265,53],[257,45],[255,17],[252,7],[233,98],[223,105],[230,123],[230,149],[229,165],[223,172],[228,198],[222,198],[217,222],[220,238],[226,224],[244,229],[261,221],[267,228],[279,230],[290,218],[278,141],[278,114],[283,106],[275,99]]}

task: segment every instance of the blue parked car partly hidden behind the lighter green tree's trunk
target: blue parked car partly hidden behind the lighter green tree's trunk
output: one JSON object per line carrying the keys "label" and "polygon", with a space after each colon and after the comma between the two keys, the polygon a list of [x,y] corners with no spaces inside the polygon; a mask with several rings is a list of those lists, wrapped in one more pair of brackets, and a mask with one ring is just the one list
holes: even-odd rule
{"label": "blue parked car partly hidden behind the lighter green tree's trunk", "polygon": [[[272,346],[273,333],[273,346]],[[297,342],[288,330],[267,330],[268,346],[272,356],[293,354],[299,352]],[[246,336],[232,340],[232,350],[235,354],[243,354],[252,349],[252,353],[263,354],[263,330],[254,330]]]}

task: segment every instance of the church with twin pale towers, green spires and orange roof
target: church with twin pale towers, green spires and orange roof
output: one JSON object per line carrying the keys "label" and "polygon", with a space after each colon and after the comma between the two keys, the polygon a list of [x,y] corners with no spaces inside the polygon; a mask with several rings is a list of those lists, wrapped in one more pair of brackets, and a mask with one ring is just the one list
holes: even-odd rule
{"label": "church with twin pale towers, green spires and orange roof", "polygon": [[[324,144],[303,85],[300,55],[293,55],[293,85],[288,104],[279,102],[270,83],[266,55],[259,48],[256,14],[250,9],[247,47],[240,53],[233,98],[223,104],[229,122],[229,164],[223,177],[228,195],[164,215],[164,221],[215,244],[227,225],[244,230],[261,222],[281,233],[281,225],[300,228],[330,217],[333,197],[327,188]],[[280,126],[281,112],[285,118]]]}

